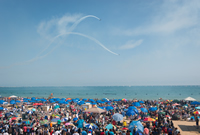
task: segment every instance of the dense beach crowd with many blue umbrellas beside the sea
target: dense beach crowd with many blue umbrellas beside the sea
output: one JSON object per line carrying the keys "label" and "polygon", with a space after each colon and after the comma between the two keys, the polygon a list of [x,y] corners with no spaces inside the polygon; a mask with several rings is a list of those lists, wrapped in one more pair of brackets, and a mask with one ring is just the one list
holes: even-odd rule
{"label": "dense beach crowd with many blue umbrellas beside the sea", "polygon": [[197,106],[183,100],[4,97],[0,106],[0,135],[180,135],[172,120],[199,123]]}

